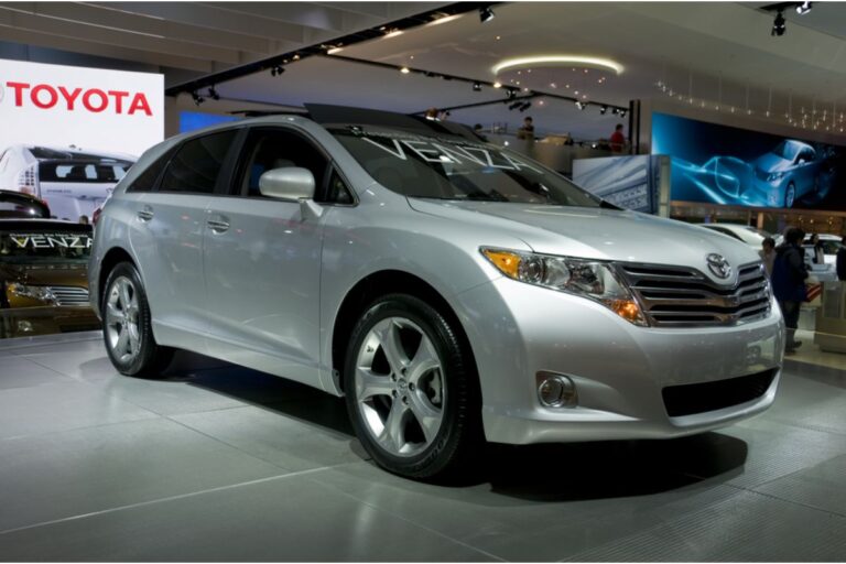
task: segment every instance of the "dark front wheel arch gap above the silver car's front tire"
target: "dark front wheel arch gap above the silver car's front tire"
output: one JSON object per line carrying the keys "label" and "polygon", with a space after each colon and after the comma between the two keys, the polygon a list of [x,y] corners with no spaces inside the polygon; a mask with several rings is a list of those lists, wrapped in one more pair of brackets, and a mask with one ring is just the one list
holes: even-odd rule
{"label": "dark front wheel arch gap above the silver car's front tire", "polygon": [[433,285],[420,276],[401,270],[382,270],[368,274],[358,281],[338,308],[332,332],[332,367],[337,373],[337,386],[344,390],[344,360],[352,328],[365,308],[375,300],[387,294],[404,293],[419,297],[442,315],[455,327],[458,338],[469,355],[474,369],[477,369],[476,356],[467,337],[467,332],[449,302]]}

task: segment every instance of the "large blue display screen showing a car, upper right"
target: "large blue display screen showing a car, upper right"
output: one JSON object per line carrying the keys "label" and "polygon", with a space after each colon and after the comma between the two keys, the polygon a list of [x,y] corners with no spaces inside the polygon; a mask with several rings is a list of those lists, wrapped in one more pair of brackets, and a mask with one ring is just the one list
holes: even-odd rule
{"label": "large blue display screen showing a car, upper right", "polygon": [[846,209],[843,147],[653,113],[652,153],[672,158],[674,200]]}

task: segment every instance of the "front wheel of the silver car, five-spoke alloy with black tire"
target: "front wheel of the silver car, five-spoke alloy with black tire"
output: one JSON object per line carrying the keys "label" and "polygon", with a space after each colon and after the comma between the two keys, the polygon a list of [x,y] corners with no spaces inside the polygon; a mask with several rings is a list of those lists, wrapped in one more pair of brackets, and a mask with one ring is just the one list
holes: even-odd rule
{"label": "front wheel of the silver car, five-spoke alloy with black tire", "polygon": [[377,300],[352,329],[347,408],[365,449],[411,478],[460,473],[482,443],[468,347],[446,317],[406,294]]}

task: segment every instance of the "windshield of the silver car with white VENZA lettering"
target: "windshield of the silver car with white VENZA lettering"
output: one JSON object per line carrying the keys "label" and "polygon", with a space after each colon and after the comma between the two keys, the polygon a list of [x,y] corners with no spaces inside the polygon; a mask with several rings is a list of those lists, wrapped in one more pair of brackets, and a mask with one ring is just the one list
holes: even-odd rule
{"label": "windshield of the silver car with white VENZA lettering", "polygon": [[362,128],[330,132],[379,184],[409,197],[599,207],[601,199],[500,148]]}

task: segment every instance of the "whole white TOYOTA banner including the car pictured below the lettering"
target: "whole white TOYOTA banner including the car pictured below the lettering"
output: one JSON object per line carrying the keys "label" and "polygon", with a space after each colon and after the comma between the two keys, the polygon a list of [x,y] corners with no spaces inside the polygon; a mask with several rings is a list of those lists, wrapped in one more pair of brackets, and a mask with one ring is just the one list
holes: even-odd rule
{"label": "whole white TOYOTA banner including the car pictured below the lettering", "polygon": [[0,59],[0,189],[90,217],[164,139],[164,77]]}

